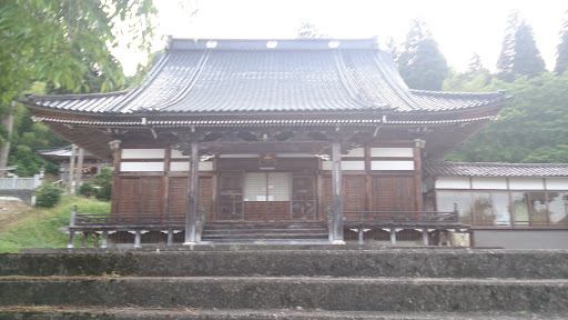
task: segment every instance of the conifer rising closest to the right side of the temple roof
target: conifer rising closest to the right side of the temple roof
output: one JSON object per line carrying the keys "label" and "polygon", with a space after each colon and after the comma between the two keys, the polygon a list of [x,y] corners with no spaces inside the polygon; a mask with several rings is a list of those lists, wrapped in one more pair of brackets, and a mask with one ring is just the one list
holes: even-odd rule
{"label": "conifer rising closest to the right side of the temple roof", "polygon": [[398,57],[398,70],[406,84],[413,89],[442,90],[444,79],[448,76],[446,58],[420,20],[412,21],[404,50]]}

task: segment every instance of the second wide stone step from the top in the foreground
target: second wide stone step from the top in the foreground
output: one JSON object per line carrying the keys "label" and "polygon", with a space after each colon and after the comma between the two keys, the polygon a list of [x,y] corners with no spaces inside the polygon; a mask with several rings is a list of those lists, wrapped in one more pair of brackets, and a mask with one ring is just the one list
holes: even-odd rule
{"label": "second wide stone step from the top in the foreground", "polygon": [[1,277],[0,304],[568,313],[568,279]]}

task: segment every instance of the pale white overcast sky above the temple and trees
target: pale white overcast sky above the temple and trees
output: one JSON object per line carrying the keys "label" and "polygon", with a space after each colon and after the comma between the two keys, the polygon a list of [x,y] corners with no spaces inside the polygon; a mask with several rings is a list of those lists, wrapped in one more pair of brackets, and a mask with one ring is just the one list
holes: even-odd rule
{"label": "pale white overcast sky above the temple and trees", "polygon": [[[332,38],[393,37],[403,42],[412,19],[424,20],[449,66],[465,70],[474,52],[494,70],[507,16],[518,9],[532,27],[537,46],[550,70],[567,0],[159,0],[158,32],[182,38],[295,38],[302,22],[315,24]],[[180,2],[197,13],[189,17]],[[187,7],[187,6],[186,6]],[[163,46],[163,44],[162,44]],[[160,46],[158,46],[160,47]],[[122,53],[126,74],[136,61]]]}

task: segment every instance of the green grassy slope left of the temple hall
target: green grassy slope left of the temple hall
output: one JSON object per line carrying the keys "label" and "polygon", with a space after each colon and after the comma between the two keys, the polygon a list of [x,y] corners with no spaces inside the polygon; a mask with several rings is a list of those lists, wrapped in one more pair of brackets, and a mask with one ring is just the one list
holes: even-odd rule
{"label": "green grassy slope left of the temple hall", "polygon": [[[0,229],[0,252],[18,252],[22,248],[64,248],[69,236],[58,228],[69,224],[69,217],[77,204],[80,213],[110,212],[111,203],[84,197],[64,196],[58,206],[51,209],[33,208]],[[75,240],[80,247],[81,237]]]}

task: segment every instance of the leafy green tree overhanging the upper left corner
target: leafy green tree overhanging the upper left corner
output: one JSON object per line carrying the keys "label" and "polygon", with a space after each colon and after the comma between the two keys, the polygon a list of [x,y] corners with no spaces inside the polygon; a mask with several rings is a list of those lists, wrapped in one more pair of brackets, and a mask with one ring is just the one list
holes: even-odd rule
{"label": "leafy green tree overhanging the upper left corner", "polygon": [[119,88],[125,78],[109,46],[126,33],[150,50],[155,12],[151,0],[0,0],[0,103],[32,80],[79,92],[95,74],[101,91]]}

